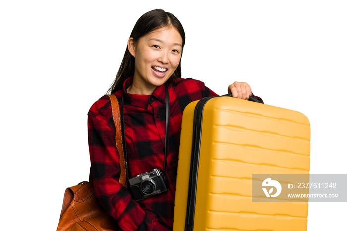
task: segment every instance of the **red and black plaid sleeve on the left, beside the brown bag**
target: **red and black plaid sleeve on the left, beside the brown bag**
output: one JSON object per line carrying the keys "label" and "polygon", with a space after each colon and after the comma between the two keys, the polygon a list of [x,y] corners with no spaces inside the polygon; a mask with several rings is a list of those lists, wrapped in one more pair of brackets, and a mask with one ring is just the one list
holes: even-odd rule
{"label": "red and black plaid sleeve on the left, beside the brown bag", "polygon": [[115,141],[116,129],[111,106],[107,108],[110,118],[108,113],[103,115],[103,112],[93,112],[93,106],[88,113],[91,179],[96,197],[124,231],[168,230],[160,224],[155,214],[144,211],[132,200],[128,189],[119,183],[120,164]]}

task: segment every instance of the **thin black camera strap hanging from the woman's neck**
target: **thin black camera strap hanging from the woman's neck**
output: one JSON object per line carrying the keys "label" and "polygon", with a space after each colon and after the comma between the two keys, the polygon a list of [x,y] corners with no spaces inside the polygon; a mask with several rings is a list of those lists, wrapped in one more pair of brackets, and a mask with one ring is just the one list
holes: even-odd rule
{"label": "thin black camera strap hanging from the woman's neck", "polygon": [[[165,178],[165,170],[166,170],[166,158],[168,156],[168,144],[169,144],[169,91],[168,87],[165,85],[165,148],[164,148],[164,166],[163,166],[163,179]],[[122,138],[123,138],[123,148],[124,148],[124,159],[125,159],[125,168],[126,168],[126,182],[128,182],[129,178],[129,167],[128,167],[128,153],[126,151],[126,142],[125,142],[125,122],[124,122],[124,94],[121,98],[120,103],[120,115],[121,115],[121,129],[122,129]]]}

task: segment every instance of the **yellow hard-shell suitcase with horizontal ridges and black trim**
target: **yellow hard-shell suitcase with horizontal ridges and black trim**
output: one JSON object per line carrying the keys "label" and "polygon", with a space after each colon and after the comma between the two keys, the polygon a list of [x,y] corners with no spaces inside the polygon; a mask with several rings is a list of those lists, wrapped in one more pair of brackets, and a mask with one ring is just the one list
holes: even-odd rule
{"label": "yellow hard-shell suitcase with horizontal ridges and black trim", "polygon": [[309,174],[309,155],[302,113],[232,97],[190,103],[173,231],[306,231],[308,202],[252,202],[252,174]]}

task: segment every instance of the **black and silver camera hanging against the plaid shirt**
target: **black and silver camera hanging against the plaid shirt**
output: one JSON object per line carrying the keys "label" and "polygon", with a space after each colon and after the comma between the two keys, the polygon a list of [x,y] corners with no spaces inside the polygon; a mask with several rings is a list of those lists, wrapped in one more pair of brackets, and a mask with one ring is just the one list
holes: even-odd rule
{"label": "black and silver camera hanging against the plaid shirt", "polygon": [[168,190],[163,175],[158,168],[129,179],[129,185],[135,201],[140,201]]}

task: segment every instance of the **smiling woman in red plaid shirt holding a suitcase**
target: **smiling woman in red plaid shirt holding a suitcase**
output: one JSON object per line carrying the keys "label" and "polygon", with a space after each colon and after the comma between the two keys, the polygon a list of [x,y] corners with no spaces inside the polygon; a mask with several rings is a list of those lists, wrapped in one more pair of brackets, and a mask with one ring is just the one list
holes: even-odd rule
{"label": "smiling woman in red plaid shirt holding a suitcase", "polygon": [[[88,113],[91,175],[96,196],[122,230],[171,230],[184,108],[192,101],[217,96],[200,81],[181,78],[180,60],[185,34],[179,20],[163,10],[152,10],[136,22],[114,84],[109,91],[124,100],[124,123],[129,178],[163,169],[167,191],[136,202],[119,182],[119,153],[108,96]],[[164,160],[166,88],[170,104],[168,155]],[[235,82],[234,97],[248,99],[251,88]]]}

